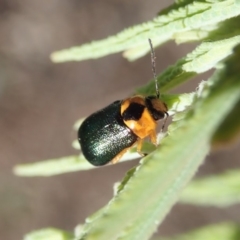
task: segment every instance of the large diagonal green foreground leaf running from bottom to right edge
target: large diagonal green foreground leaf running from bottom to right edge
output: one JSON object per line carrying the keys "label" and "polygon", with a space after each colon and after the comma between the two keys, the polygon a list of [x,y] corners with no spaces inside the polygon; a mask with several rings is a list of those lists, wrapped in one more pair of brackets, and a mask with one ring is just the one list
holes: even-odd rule
{"label": "large diagonal green foreground leaf running from bottom to right edge", "polygon": [[144,240],[153,234],[202,164],[219,123],[239,100],[239,62],[237,48],[226,68],[205,85],[174,134],[142,159],[107,206],[87,219],[81,239]]}

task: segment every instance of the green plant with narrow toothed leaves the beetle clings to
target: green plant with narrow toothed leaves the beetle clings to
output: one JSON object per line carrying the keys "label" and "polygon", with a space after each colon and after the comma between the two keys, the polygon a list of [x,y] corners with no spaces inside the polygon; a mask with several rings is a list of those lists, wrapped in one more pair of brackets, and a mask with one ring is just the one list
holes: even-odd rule
{"label": "green plant with narrow toothed leaves the beetle clings to", "polygon": [[[213,144],[234,139],[240,130],[235,117],[240,109],[240,1],[178,0],[150,22],[131,27],[107,39],[53,53],[55,62],[98,58],[124,51],[136,60],[155,47],[175,39],[178,43],[199,41],[199,46],[158,76],[166,93],[194,76],[215,68],[214,74],[190,94],[163,94],[173,115],[168,135],[155,151],[148,144],[140,164],[131,169],[115,188],[109,203],[74,234],[46,229],[25,239],[149,239],[171,207],[180,198],[191,204],[228,206],[240,202],[240,169],[202,180],[191,180]],[[154,93],[154,81],[136,90]],[[79,122],[76,124],[79,126]],[[183,137],[184,136],[184,137]],[[132,153],[127,159],[134,158]],[[22,176],[51,176],[92,168],[80,156],[16,166]],[[216,186],[224,184],[224,191]],[[183,191],[183,193],[182,193]],[[216,196],[218,196],[216,198]],[[132,214],[134,212],[134,214]],[[108,226],[111,226],[110,228]],[[233,223],[207,226],[173,239],[239,239],[240,227]],[[193,237],[194,236],[194,237]]]}

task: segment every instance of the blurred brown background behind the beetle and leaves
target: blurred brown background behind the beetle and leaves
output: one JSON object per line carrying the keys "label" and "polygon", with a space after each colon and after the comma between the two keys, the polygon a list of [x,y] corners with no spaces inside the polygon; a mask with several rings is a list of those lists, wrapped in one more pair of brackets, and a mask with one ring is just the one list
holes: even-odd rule
{"label": "blurred brown background behind the beetle and leaves", "polygon": [[[51,52],[150,20],[172,2],[0,1],[0,239],[19,240],[31,230],[48,226],[72,231],[107,203],[113,183],[137,164],[121,163],[50,178],[13,175],[16,164],[78,154],[71,148],[76,138],[73,123],[129,96],[152,79],[150,56],[133,63],[116,54],[53,64]],[[156,51],[157,72],[193,48],[193,44],[162,46]],[[207,75],[199,79],[207,79]],[[194,90],[198,80],[175,92]],[[238,142],[211,153],[198,175],[239,166],[239,147]],[[177,205],[159,233],[172,235],[207,223],[240,221],[238,208]]]}

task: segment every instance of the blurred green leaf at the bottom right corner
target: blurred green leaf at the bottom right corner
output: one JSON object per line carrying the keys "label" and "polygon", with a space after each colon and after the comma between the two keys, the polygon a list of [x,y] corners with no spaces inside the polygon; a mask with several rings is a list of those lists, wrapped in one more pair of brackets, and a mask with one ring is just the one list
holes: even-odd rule
{"label": "blurred green leaf at the bottom right corner", "polygon": [[239,240],[240,225],[231,222],[204,226],[174,237],[156,237],[152,240]]}

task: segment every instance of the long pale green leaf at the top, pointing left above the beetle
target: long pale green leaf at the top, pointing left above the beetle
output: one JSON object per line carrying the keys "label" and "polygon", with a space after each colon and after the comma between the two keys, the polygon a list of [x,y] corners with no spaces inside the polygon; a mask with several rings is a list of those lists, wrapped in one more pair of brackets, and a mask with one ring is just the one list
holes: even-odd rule
{"label": "long pale green leaf at the top, pointing left above the beetle", "polygon": [[216,25],[239,14],[240,5],[234,0],[179,2],[162,11],[161,15],[152,21],[128,28],[103,40],[55,52],[51,59],[54,62],[80,61],[127,51],[124,56],[135,60],[149,51],[146,44],[148,38],[158,46],[173,38],[176,33]]}

